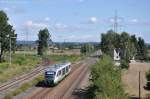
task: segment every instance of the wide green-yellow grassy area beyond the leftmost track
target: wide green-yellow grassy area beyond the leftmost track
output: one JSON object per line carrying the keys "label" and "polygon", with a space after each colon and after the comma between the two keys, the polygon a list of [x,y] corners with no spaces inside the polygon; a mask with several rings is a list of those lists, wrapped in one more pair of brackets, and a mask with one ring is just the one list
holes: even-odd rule
{"label": "wide green-yellow grassy area beyond the leftmost track", "polygon": [[12,64],[9,66],[8,62],[0,63],[0,83],[26,73],[37,66],[41,62],[41,58],[35,55],[28,55],[24,57],[22,54],[12,55]]}

